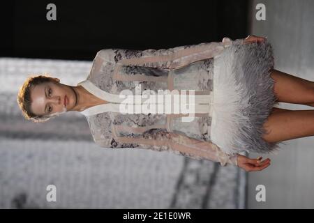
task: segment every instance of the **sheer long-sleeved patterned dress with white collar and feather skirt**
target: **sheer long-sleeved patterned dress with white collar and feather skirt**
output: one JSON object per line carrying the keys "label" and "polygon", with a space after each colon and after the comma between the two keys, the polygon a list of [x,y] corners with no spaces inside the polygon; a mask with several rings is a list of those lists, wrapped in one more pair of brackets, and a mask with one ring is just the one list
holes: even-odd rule
{"label": "sheer long-sleeved patterned dress with white collar and feather skirt", "polygon": [[107,103],[81,113],[99,146],[237,165],[237,153],[279,148],[262,139],[262,124],[276,105],[271,68],[270,43],[244,44],[244,39],[158,50],[102,49],[77,86]]}

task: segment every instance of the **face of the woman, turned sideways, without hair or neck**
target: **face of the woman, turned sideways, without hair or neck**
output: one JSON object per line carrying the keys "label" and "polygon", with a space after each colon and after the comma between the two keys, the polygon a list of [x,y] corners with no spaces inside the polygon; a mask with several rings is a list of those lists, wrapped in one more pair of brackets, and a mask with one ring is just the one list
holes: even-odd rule
{"label": "face of the woman, turned sideways, without hair or neck", "polygon": [[77,95],[71,86],[45,82],[31,90],[31,101],[31,112],[37,116],[49,116],[70,111],[77,104]]}

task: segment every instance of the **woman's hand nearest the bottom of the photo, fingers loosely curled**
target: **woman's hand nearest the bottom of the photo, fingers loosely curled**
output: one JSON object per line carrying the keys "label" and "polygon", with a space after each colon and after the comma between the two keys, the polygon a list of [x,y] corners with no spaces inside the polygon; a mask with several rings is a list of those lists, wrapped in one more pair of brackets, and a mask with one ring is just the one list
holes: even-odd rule
{"label": "woman's hand nearest the bottom of the photo, fingers loosely curled", "polygon": [[264,161],[261,161],[261,160],[262,160],[262,157],[258,157],[257,159],[251,159],[249,157],[246,157],[240,154],[238,154],[237,156],[238,167],[248,172],[261,171],[262,169],[269,167],[270,161],[271,161],[269,158],[267,158]]}

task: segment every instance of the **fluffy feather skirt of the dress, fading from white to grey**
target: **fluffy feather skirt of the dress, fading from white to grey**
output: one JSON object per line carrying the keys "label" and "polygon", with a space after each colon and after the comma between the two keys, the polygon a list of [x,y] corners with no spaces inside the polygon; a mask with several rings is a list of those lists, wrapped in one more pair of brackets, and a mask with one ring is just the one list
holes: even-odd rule
{"label": "fluffy feather skirt of the dress, fading from white to grey", "polygon": [[283,144],[262,139],[263,124],[278,105],[271,68],[274,55],[267,41],[235,40],[214,57],[211,141],[225,153],[274,153]]}

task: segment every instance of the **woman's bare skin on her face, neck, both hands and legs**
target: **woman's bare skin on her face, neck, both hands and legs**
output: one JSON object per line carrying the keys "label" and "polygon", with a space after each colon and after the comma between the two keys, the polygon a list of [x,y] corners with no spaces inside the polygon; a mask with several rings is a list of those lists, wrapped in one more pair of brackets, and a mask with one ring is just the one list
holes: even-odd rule
{"label": "woman's bare skin on her face, neck, both hands and legs", "polygon": [[[263,37],[248,36],[244,44],[262,43],[266,40]],[[271,70],[271,77],[275,80],[274,93],[278,102],[288,102],[314,107],[314,82],[301,79],[293,75],[288,75],[279,70]],[[51,95],[45,98],[44,89],[51,88]],[[51,106],[51,113],[62,112],[64,105],[64,95],[68,97],[69,103],[66,105],[68,111],[82,111],[94,105],[106,103],[96,96],[86,91],[82,86],[68,86],[61,84],[59,79],[55,82],[44,83],[35,86],[31,91],[33,103],[31,109],[33,113],[42,115],[45,104]],[[308,123],[314,122],[314,110],[292,111],[287,109],[275,108],[264,123],[267,134],[263,139],[269,142],[285,141],[299,137],[308,137],[314,135],[314,125]],[[244,155],[237,155],[238,167],[245,171],[262,171],[269,167],[271,160],[269,158],[262,160],[249,158]]]}

